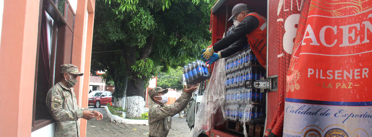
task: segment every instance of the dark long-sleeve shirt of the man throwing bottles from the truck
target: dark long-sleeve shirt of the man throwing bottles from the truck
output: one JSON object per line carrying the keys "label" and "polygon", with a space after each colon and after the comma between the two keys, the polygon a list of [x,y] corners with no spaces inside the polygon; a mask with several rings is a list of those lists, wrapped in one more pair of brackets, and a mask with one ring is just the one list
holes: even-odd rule
{"label": "dark long-sleeve shirt of the man throwing bottles from the truck", "polygon": [[[248,44],[247,34],[259,26],[259,20],[254,16],[247,16],[231,33],[213,45],[214,51],[221,51],[221,57],[228,57],[237,53]],[[230,46],[231,45],[231,46]],[[226,49],[225,49],[226,48]],[[225,49],[225,50],[223,50]]]}

